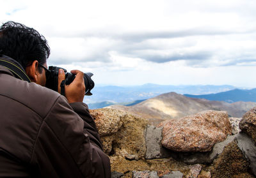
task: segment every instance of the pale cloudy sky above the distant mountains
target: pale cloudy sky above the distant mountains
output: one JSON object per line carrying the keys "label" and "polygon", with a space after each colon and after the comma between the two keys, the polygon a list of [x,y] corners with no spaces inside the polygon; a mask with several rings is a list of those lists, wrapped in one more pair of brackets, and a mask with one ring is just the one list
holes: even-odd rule
{"label": "pale cloudy sky above the distant mountains", "polygon": [[95,84],[256,87],[255,0],[0,0],[0,23],[33,27],[48,66]]}

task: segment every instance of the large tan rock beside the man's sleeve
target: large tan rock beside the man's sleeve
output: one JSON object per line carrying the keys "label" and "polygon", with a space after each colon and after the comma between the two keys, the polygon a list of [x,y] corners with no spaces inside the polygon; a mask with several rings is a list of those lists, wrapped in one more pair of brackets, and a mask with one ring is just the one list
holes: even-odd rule
{"label": "large tan rock beside the man's sleeve", "polygon": [[112,156],[143,158],[146,152],[144,131],[148,121],[111,108],[90,110],[99,130],[104,152]]}

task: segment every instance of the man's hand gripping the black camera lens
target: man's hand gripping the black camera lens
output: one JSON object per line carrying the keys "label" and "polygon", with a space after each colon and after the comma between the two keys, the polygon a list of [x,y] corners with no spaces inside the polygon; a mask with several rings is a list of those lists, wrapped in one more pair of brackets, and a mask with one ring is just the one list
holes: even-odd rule
{"label": "man's hand gripping the black camera lens", "polygon": [[[84,73],[79,70],[72,70],[71,73],[75,74],[76,78],[71,84],[65,85],[65,96],[68,103],[83,102],[85,94]],[[65,80],[65,73],[60,69],[58,75],[58,93],[61,91],[60,84],[62,80]]]}

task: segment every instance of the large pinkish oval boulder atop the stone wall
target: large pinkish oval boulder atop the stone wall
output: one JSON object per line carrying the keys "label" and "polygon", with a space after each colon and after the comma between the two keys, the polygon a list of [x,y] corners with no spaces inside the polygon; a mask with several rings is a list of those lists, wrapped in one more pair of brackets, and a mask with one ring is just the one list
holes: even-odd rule
{"label": "large pinkish oval boulder atop the stone wall", "polygon": [[231,135],[232,128],[225,111],[205,111],[160,123],[164,147],[178,152],[207,152],[214,144]]}

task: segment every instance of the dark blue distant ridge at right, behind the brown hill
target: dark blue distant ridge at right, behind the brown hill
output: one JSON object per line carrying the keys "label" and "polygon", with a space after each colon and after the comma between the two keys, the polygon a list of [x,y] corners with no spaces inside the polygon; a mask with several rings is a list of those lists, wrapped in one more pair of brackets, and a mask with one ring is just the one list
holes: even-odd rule
{"label": "dark blue distant ridge at right, behind the brown hill", "polygon": [[256,102],[256,89],[234,89],[231,91],[225,91],[216,94],[203,94],[192,95],[184,94],[190,98],[204,98],[211,101],[226,101],[228,103],[234,103],[237,101],[252,101]]}

